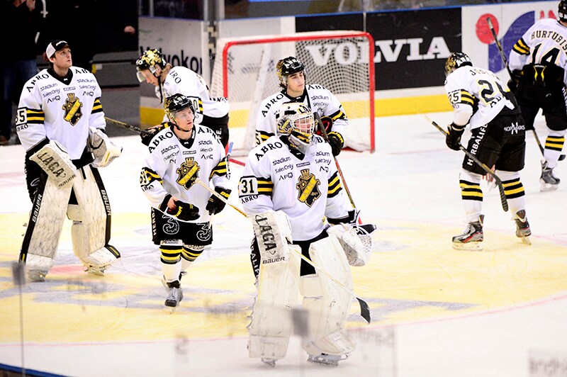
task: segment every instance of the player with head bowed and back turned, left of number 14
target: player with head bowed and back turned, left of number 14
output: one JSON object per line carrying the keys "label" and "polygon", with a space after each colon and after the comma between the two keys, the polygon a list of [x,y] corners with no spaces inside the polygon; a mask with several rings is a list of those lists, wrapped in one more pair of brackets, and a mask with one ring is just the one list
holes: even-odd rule
{"label": "player with head bowed and back turned, left of number 14", "polygon": [[[506,200],[516,223],[516,235],[529,242],[532,234],[526,216],[524,186],[520,170],[524,168],[525,126],[513,94],[486,69],[473,67],[463,52],[452,52],[445,62],[445,90],[453,106],[447,146],[459,150],[465,127],[471,124],[467,150],[487,167],[495,167],[502,180]],[[481,179],[485,171],[468,156],[464,157],[459,184],[468,225],[453,237],[456,249],[481,249],[483,241]]]}

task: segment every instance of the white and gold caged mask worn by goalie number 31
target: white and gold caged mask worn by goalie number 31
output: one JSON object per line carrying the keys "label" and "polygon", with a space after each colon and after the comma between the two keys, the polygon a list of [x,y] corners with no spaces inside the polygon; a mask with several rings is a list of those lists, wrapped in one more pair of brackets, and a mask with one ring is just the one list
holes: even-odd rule
{"label": "white and gold caged mask worn by goalie number 31", "polygon": [[305,103],[287,102],[281,105],[276,114],[278,135],[288,136],[292,147],[303,154],[313,140],[315,120],[309,106]]}

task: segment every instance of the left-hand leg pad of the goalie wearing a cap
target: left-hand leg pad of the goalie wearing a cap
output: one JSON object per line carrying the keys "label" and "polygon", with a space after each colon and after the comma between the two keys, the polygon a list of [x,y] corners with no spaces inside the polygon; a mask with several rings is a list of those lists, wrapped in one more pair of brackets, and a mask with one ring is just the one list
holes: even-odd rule
{"label": "left-hand leg pad of the goalie wearing a cap", "polygon": [[30,277],[32,271],[45,276],[53,264],[71,189],[72,186],[60,188],[47,179],[35,193],[20,252],[20,260],[26,262]]}

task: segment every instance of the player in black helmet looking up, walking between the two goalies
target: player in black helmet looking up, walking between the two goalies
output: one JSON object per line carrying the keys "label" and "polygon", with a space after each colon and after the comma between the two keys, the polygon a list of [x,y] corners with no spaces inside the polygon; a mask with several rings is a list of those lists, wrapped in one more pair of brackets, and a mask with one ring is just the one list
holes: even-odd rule
{"label": "player in black helmet looking up, walking between the two goalies", "polygon": [[140,186],[152,211],[154,243],[159,245],[165,305],[176,308],[183,298],[181,274],[213,242],[211,216],[225,203],[210,196],[196,179],[230,195],[226,155],[213,130],[193,123],[193,101],[174,94],[164,101],[168,127],[150,141],[150,155],[140,174]]}

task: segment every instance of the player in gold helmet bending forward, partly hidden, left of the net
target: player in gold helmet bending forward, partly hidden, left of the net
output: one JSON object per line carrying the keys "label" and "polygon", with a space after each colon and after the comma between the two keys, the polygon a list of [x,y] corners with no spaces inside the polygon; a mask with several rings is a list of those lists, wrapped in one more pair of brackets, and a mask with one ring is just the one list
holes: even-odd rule
{"label": "player in gold helmet bending forward, partly hidden, left of the net", "polygon": [[[172,67],[156,49],[145,50],[140,55],[136,60],[136,74],[140,82],[146,81],[155,86],[155,94],[160,101],[174,94],[183,94],[191,99],[195,123],[215,131],[223,146],[228,145],[228,101],[224,97],[211,98],[203,77],[187,67]],[[162,125],[142,133],[142,142],[147,145],[167,121],[167,116],[164,116]]]}

